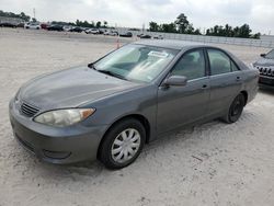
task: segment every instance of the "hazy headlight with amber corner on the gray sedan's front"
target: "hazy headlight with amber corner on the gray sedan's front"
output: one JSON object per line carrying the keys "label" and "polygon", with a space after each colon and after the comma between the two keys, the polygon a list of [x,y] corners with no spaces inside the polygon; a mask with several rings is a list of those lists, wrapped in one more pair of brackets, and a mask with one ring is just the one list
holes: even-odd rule
{"label": "hazy headlight with amber corner on the gray sedan's front", "polygon": [[70,108],[45,112],[34,118],[34,122],[57,127],[79,123],[95,112],[94,108]]}

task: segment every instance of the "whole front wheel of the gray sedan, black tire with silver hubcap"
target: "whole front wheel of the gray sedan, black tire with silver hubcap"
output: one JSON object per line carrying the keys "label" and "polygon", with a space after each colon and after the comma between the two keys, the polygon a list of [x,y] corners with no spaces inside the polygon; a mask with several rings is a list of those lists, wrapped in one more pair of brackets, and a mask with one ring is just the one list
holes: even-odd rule
{"label": "whole front wheel of the gray sedan, black tire with silver hubcap", "polygon": [[145,140],[146,130],[139,121],[127,118],[117,122],[104,136],[99,159],[107,169],[125,168],[138,158]]}

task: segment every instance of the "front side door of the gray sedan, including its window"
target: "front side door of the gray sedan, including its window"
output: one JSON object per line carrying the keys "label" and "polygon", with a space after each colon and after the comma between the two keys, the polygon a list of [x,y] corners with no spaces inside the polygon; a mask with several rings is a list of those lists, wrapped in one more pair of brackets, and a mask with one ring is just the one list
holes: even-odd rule
{"label": "front side door of the gray sedan, including its window", "polygon": [[164,87],[158,90],[158,134],[172,130],[204,117],[209,102],[209,78],[207,77],[203,48],[183,54],[168,77],[184,76],[186,85]]}

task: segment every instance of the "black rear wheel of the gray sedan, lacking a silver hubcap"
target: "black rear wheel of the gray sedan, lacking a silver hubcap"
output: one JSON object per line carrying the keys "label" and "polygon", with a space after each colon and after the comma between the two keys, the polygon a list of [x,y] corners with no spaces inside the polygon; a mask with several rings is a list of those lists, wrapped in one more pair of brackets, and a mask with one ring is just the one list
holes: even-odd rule
{"label": "black rear wheel of the gray sedan, lacking a silver hubcap", "polygon": [[222,121],[228,124],[236,123],[240,118],[244,105],[246,98],[242,93],[240,93],[232,101],[231,105],[229,106],[228,114],[222,117]]}

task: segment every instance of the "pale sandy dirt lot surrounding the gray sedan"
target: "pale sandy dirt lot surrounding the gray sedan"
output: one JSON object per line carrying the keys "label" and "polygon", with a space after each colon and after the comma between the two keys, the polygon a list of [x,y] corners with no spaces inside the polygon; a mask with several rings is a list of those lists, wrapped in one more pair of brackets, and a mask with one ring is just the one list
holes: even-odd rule
{"label": "pale sandy dirt lot surrounding the gray sedan", "polygon": [[[52,165],[12,136],[8,102],[31,78],[87,65],[116,38],[0,28],[0,205],[274,205],[274,92],[232,125],[212,122],[155,141],[119,171]],[[267,49],[220,45],[246,62]]]}

